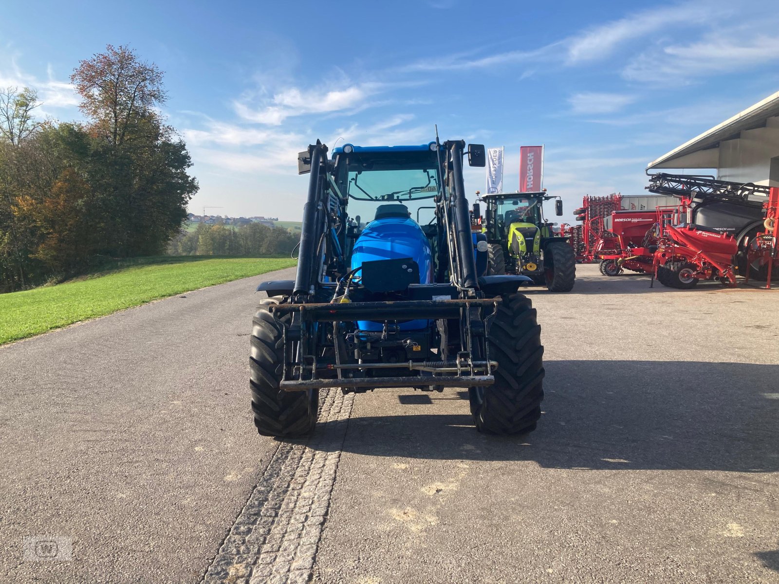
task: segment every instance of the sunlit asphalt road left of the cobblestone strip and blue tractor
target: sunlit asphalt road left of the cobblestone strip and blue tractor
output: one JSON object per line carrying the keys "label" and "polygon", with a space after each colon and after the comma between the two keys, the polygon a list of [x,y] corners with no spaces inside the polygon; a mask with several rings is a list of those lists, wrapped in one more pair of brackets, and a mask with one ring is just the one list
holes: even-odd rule
{"label": "sunlit asphalt road left of the cobblestone strip and blue tractor", "polygon": [[[0,347],[0,582],[197,582],[278,443],[249,419],[256,285]],[[73,539],[23,562],[22,538]]]}

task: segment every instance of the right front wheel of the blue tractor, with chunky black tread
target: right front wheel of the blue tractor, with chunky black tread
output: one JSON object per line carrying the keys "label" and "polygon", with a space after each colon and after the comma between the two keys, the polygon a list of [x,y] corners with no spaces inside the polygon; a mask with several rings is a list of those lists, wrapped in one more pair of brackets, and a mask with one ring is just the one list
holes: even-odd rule
{"label": "right front wheel of the blue tractor, with chunky black tread", "polygon": [[541,417],[544,347],[536,311],[523,294],[506,294],[489,330],[495,383],[471,388],[471,413],[480,432],[527,434]]}

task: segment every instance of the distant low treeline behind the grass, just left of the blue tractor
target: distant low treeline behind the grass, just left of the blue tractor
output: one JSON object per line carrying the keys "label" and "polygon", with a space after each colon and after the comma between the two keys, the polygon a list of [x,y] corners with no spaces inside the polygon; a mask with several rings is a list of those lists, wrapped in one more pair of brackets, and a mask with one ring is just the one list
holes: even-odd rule
{"label": "distant low treeline behind the grass, just left of the blue tractor", "polygon": [[283,227],[249,223],[237,229],[221,223],[199,223],[193,231],[183,231],[171,240],[171,255],[279,255],[289,254],[299,237]]}

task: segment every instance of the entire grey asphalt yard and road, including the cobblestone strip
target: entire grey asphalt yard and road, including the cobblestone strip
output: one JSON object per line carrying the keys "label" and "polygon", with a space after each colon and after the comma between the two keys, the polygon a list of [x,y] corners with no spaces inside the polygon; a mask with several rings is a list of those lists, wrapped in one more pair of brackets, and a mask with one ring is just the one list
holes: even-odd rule
{"label": "entire grey asphalt yard and road, including the cobblestone strip", "polygon": [[[779,582],[779,291],[577,272],[530,292],[522,438],[455,389],[331,392],[311,441],[256,436],[260,278],[0,347],[0,581]],[[23,562],[38,533],[74,561]]]}

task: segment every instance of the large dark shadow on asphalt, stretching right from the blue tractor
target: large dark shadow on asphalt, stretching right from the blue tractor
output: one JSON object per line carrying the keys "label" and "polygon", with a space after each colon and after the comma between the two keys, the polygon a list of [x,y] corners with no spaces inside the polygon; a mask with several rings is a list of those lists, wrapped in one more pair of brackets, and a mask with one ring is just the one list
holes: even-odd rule
{"label": "large dark shadow on asphalt, stretching right from the blue tractor", "polygon": [[[544,413],[531,434],[478,433],[466,392],[424,394],[427,403],[411,399],[423,395],[420,392],[407,391],[409,398],[401,395],[400,401],[414,405],[395,402],[387,408],[403,413],[377,417],[353,413],[343,451],[418,459],[532,460],[564,469],[779,470],[779,365],[699,361],[545,365]],[[378,397],[368,393],[356,399],[358,403]],[[361,409],[373,409],[366,406]],[[453,413],[453,406],[461,413]]]}

